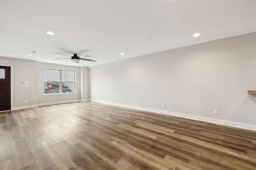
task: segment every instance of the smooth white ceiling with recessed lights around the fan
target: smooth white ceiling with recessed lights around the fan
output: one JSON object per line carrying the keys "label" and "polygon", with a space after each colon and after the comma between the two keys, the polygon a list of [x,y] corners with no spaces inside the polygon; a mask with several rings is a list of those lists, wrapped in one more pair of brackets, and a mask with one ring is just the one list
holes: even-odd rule
{"label": "smooth white ceiling with recessed lights around the fan", "polygon": [[255,32],[255,9],[256,0],[1,0],[0,56],[94,66]]}

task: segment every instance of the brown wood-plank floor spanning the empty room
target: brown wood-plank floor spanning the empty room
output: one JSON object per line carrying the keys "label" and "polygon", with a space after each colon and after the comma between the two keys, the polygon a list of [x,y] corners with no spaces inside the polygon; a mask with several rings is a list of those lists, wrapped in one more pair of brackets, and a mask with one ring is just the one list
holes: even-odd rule
{"label": "brown wood-plank floor spanning the empty room", "polygon": [[256,170],[256,131],[94,102],[0,113],[1,170]]}

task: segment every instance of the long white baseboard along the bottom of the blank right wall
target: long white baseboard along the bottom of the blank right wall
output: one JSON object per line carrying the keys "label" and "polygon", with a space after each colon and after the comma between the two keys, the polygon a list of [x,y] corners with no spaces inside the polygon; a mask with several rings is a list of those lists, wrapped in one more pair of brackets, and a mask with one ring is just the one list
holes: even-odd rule
{"label": "long white baseboard along the bottom of the blank right wall", "polygon": [[214,118],[210,118],[210,117],[203,117],[203,116],[197,116],[197,115],[189,115],[189,114],[178,113],[178,112],[173,112],[173,111],[151,109],[151,108],[147,108],[147,107],[138,107],[138,106],[119,104],[119,103],[105,102],[105,101],[101,101],[101,100],[90,99],[89,101],[113,105],[113,106],[126,107],[126,108],[130,108],[130,109],[137,109],[137,110],[142,110],[142,111],[150,111],[150,112],[154,112],[154,113],[172,115],[172,116],[182,117],[182,118],[186,118],[186,119],[194,119],[194,120],[198,120],[198,121],[205,121],[205,122],[215,123],[215,124],[219,124],[219,125],[226,125],[226,126],[256,131],[256,125],[251,125],[251,124],[246,124],[246,123],[239,123],[239,122],[227,121],[227,120],[222,120],[222,119],[214,119]]}

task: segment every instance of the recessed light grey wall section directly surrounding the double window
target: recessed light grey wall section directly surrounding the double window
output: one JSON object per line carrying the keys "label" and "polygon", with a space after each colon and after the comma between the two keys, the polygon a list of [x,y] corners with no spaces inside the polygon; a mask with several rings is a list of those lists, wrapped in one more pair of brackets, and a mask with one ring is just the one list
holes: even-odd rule
{"label": "recessed light grey wall section directly surrounding the double window", "polygon": [[[44,95],[44,68],[76,71],[76,93]],[[38,78],[39,106],[48,105],[48,104],[65,103],[70,101],[75,102],[75,101],[81,100],[80,67],[65,66],[65,65],[59,65],[59,64],[49,64],[49,63],[38,63],[38,76],[39,76]],[[65,99],[63,97],[65,97]]]}

